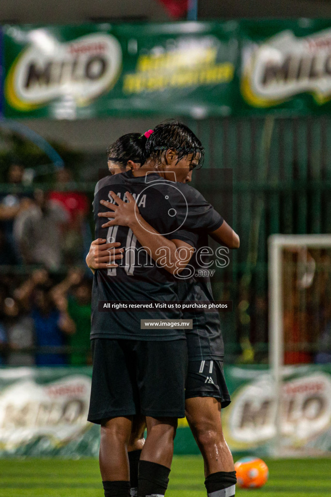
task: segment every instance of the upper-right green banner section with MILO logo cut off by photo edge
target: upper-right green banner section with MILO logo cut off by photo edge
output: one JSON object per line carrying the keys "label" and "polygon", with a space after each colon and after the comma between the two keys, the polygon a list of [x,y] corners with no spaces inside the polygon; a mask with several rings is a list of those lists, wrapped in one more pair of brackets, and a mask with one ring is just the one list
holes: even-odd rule
{"label": "upper-right green banner section with MILO logo cut off by photo edge", "polygon": [[331,20],[240,23],[242,111],[331,111]]}

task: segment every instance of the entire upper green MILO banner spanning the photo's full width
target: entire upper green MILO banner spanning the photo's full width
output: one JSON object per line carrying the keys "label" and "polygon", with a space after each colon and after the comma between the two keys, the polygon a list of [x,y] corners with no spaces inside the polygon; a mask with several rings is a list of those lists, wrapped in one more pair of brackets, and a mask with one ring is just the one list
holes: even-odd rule
{"label": "entire upper green MILO banner spanning the photo's full width", "polygon": [[331,110],[331,19],[5,26],[5,117]]}

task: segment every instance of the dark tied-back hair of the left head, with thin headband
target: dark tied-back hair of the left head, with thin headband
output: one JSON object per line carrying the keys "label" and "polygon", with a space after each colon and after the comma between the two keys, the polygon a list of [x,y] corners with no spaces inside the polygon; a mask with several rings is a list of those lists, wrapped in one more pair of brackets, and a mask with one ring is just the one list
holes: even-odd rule
{"label": "dark tied-back hair of the left head, with thin headband", "polygon": [[119,163],[123,170],[128,161],[143,164],[147,138],[140,133],[128,133],[112,143],[107,149],[109,161]]}

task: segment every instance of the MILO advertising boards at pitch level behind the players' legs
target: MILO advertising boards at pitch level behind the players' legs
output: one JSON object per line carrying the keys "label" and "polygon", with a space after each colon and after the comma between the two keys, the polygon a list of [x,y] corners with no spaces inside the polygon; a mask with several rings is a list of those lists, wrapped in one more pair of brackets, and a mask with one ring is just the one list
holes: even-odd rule
{"label": "MILO advertising boards at pitch level behind the players' legs", "polygon": [[[86,420],[92,371],[0,369],[0,457],[97,457],[100,427]],[[225,368],[231,404],[222,411],[234,453],[272,455],[276,436],[273,381],[261,366]],[[280,445],[287,456],[331,455],[331,365],[284,368]],[[198,454],[186,419],[176,454]]]}

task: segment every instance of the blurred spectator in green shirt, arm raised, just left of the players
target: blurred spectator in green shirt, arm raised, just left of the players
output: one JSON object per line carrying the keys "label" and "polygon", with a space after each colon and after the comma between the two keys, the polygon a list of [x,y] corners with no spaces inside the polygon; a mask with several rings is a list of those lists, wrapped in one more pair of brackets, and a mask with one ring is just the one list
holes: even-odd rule
{"label": "blurred spectator in green shirt, arm raised, just left of the players", "polygon": [[[53,289],[55,295],[67,298],[67,310],[75,323],[74,333],[68,336],[71,348],[69,363],[75,366],[91,364],[91,282],[82,278],[79,269],[69,271],[67,277]],[[72,295],[67,297],[72,288]]]}

